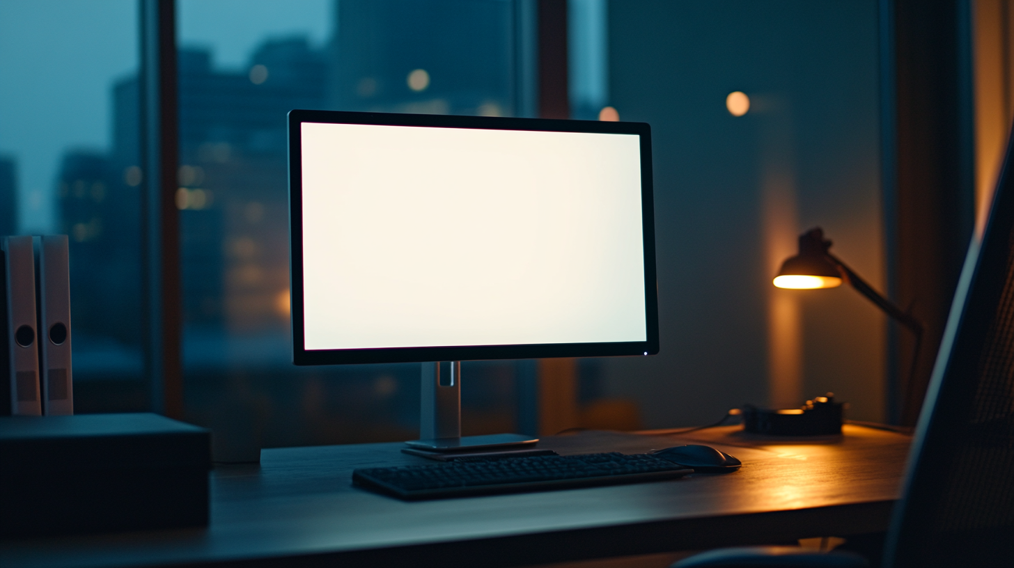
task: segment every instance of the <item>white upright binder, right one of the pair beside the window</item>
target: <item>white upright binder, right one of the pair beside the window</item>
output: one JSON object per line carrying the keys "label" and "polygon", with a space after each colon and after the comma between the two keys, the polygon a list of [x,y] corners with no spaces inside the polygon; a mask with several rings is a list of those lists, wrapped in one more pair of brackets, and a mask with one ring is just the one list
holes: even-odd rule
{"label": "white upright binder, right one of the pair beside the window", "polygon": [[35,237],[34,244],[43,414],[74,414],[67,235],[48,234]]}

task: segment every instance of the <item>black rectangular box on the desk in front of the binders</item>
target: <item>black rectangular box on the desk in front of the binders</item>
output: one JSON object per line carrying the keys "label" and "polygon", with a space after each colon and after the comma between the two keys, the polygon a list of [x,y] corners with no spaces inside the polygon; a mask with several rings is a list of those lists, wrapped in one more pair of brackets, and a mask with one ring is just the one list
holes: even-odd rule
{"label": "black rectangular box on the desk in front of the binders", "polygon": [[208,430],[155,414],[0,417],[0,537],[208,523]]}

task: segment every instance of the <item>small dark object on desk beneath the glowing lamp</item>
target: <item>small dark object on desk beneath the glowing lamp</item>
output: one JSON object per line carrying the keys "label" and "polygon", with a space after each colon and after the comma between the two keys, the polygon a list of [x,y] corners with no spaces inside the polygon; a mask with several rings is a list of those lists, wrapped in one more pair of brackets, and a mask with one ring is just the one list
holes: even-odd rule
{"label": "small dark object on desk beneath the glowing lamp", "polygon": [[798,409],[743,407],[743,430],[753,434],[779,436],[825,436],[842,433],[845,403],[836,403],[835,394],[814,397]]}

